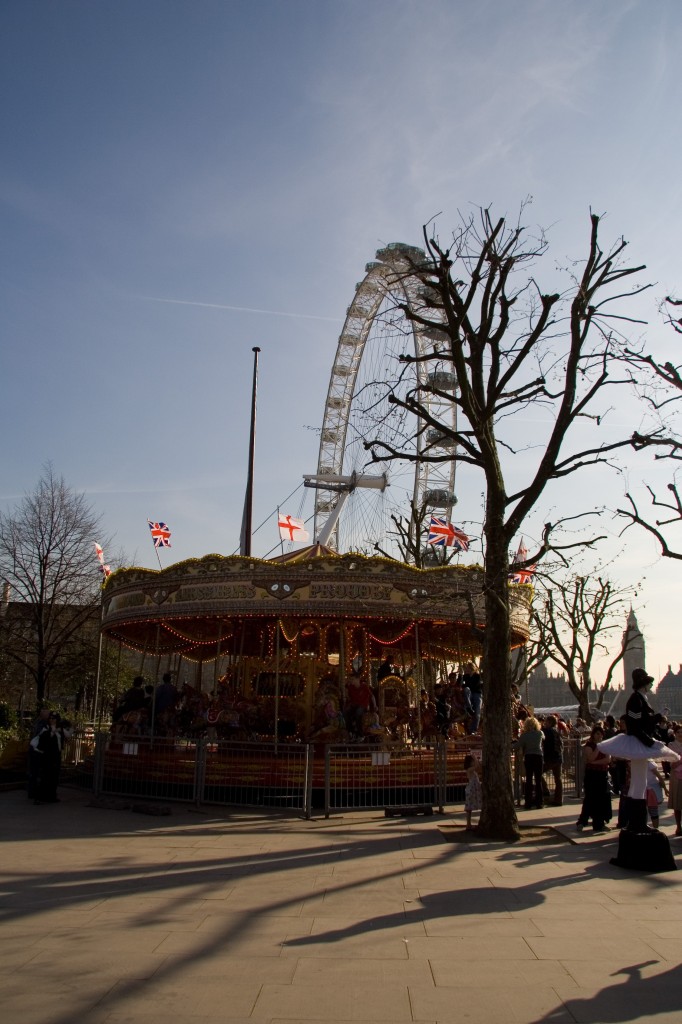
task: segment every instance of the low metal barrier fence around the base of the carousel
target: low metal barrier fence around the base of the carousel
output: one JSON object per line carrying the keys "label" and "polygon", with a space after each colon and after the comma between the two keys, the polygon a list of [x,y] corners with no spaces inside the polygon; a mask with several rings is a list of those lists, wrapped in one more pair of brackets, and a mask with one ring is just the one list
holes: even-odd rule
{"label": "low metal barrier fence around the base of the carousel", "polygon": [[[97,796],[279,807],[310,817],[348,810],[430,807],[464,800],[464,757],[480,740],[386,750],[328,745],[76,734],[65,746],[65,774]],[[523,756],[514,751],[514,797],[523,798]],[[564,796],[582,795],[580,740],[564,741]],[[550,790],[553,785],[548,772]]]}

